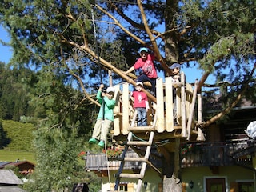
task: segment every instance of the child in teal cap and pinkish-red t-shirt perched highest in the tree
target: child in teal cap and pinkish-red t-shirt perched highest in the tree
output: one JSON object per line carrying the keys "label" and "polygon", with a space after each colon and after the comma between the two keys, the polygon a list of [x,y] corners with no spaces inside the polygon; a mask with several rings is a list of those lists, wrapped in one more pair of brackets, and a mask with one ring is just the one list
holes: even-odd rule
{"label": "child in teal cap and pinkish-red t-shirt perched highest in the tree", "polygon": [[139,54],[141,58],[138,58],[137,62],[135,62],[134,66],[130,67],[129,70],[124,72],[125,74],[129,74],[133,70],[142,69],[142,74],[137,78],[137,82],[150,82],[152,86],[153,95],[155,96],[155,85],[156,79],[158,78],[157,70],[154,67],[154,54],[149,54],[149,50],[146,47],[142,47],[139,50]]}

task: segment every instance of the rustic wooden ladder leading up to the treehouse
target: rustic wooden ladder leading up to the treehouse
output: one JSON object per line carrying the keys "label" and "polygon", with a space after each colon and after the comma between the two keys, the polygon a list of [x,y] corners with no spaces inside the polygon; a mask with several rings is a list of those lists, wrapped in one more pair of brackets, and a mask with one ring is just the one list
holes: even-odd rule
{"label": "rustic wooden ladder leading up to the treehouse", "polygon": [[[118,170],[118,173],[115,175],[116,177],[116,182],[115,182],[115,186],[114,186],[114,191],[118,191],[118,186],[120,183],[120,179],[121,178],[138,178],[138,183],[137,183],[137,189],[136,192],[139,192],[141,190],[142,187],[142,180],[144,178],[145,172],[146,172],[146,166],[147,164],[149,164],[151,167],[154,168],[154,170],[157,170],[157,168],[155,168],[151,162],[149,162],[149,158],[150,158],[150,150],[151,150],[151,146],[154,140],[154,130],[155,130],[155,126],[156,126],[156,121],[157,121],[157,117],[156,115],[154,116],[154,122],[153,122],[153,126],[134,126],[135,124],[135,120],[137,117],[137,111],[134,112],[134,117],[133,120],[131,122],[131,126],[129,128],[129,133],[127,136],[127,141],[126,142],[120,142],[121,145],[125,145],[125,149],[123,150],[122,153],[122,158],[121,158],[121,164]],[[149,140],[148,141],[132,141],[133,138],[133,131],[150,131],[150,136],[149,136]],[[129,158],[126,157],[126,153],[129,149],[129,147],[136,149],[136,147],[138,146],[146,146],[146,152],[144,157],[141,157],[141,154],[139,155],[139,158]],[[136,152],[136,150],[134,150]],[[142,162],[142,166],[141,166],[141,170],[139,174],[126,174],[126,173],[122,173],[122,170],[125,166],[125,162]],[[158,172],[160,172],[159,170],[157,170]]]}

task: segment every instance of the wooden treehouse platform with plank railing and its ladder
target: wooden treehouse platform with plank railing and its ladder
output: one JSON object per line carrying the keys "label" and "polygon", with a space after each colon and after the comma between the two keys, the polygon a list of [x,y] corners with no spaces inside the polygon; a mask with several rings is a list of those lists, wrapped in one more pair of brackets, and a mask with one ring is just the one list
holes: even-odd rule
{"label": "wooden treehouse platform with plank railing and its ladder", "polygon": [[[198,82],[192,86],[185,81],[185,74],[181,74],[181,82],[174,83],[171,77],[158,78],[156,82],[156,98],[148,94],[150,110],[147,113],[147,126],[137,126],[137,111],[133,108],[133,99],[130,98],[130,83],[125,82],[115,87],[116,106],[114,108],[113,142],[124,146],[122,157],[118,160],[118,173],[114,191],[120,189],[120,181],[124,178],[138,179],[136,191],[140,191],[146,166],[150,165],[160,177],[162,170],[158,169],[152,159],[153,151],[178,152],[176,138],[184,140],[204,140],[202,130],[201,95],[197,94]],[[173,90],[176,89],[174,95]],[[144,90],[146,91],[146,90]],[[174,102],[174,97],[176,97]],[[197,106],[197,113],[194,112]],[[175,110],[174,110],[175,109]],[[175,111],[175,113],[174,113]],[[166,141],[170,145],[155,147],[156,143]],[[177,143],[176,143],[177,144]],[[130,150],[136,152],[135,156],[128,155]],[[167,158],[167,157],[166,157]],[[131,163],[132,162],[132,163]],[[136,166],[136,173],[124,173],[127,165]],[[113,189],[113,187],[112,187]]]}

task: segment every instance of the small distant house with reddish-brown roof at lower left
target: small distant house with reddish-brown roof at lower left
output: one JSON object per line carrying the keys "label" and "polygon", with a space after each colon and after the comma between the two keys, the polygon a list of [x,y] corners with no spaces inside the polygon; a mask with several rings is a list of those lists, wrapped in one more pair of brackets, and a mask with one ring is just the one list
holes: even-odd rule
{"label": "small distant house with reddish-brown roof at lower left", "polygon": [[5,166],[16,166],[20,174],[27,175],[33,173],[34,163],[28,161],[16,161],[16,162],[0,162],[0,169]]}

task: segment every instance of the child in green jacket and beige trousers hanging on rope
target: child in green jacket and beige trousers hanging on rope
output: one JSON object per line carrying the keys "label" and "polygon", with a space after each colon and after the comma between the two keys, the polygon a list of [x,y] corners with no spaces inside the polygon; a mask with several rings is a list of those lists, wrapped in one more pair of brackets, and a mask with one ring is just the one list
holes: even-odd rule
{"label": "child in green jacket and beige trousers hanging on rope", "polygon": [[90,138],[89,143],[97,143],[98,146],[104,147],[106,141],[106,135],[108,134],[111,122],[114,121],[113,109],[115,105],[114,98],[114,87],[108,87],[106,93],[102,92],[102,84],[98,88],[98,93],[96,98],[98,102],[101,103],[100,110],[98,112],[98,118],[94,126],[94,132],[92,138]]}

